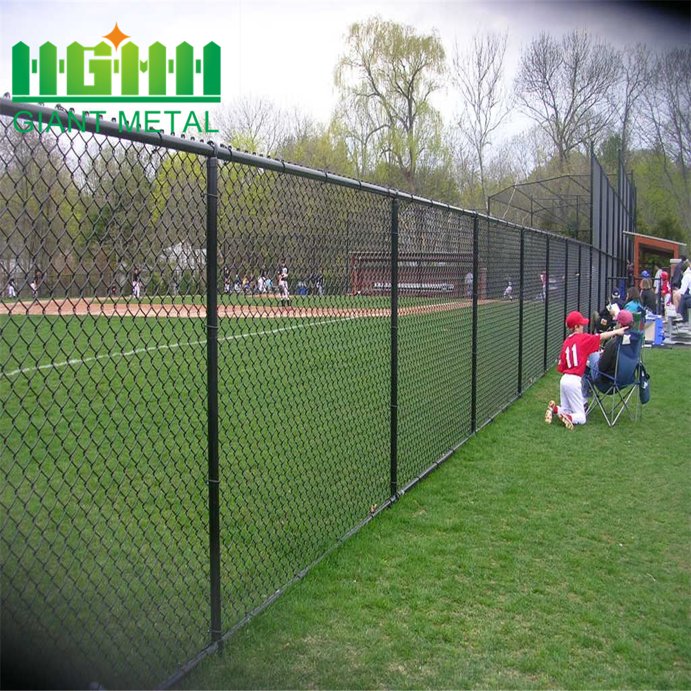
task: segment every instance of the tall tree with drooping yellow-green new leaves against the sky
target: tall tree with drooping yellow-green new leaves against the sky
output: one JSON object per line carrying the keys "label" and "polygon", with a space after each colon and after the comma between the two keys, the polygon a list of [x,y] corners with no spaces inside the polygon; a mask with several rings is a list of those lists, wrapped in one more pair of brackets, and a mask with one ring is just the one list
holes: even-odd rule
{"label": "tall tree with drooping yellow-green new leaves against the sky", "polygon": [[350,26],[335,70],[341,112],[357,113],[350,144],[365,147],[366,155],[357,154],[361,164],[371,159],[396,167],[413,193],[419,161],[439,141],[442,120],[430,96],[442,87],[444,70],[436,33],[419,36],[379,17]]}

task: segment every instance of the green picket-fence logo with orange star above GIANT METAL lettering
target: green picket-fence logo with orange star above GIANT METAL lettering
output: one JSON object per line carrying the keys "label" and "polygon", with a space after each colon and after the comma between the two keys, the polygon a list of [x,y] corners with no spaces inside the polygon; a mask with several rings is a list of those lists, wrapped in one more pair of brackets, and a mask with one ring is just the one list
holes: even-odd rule
{"label": "green picket-fence logo with orange star above GIANT METAL lettering", "polygon": [[[115,28],[102,37],[117,48],[125,35]],[[88,73],[93,84],[85,84],[87,51]],[[39,102],[46,98],[74,103],[158,102],[158,103],[220,103],[220,46],[211,41],[202,48],[202,57],[195,59],[193,47],[183,41],[175,49],[175,57],[167,57],[166,47],[156,41],[149,46],[146,60],[140,59],[139,46],[132,41],[124,44],[120,59],[111,59],[112,48],[101,41],[93,47],[75,41],[66,48],[66,57],[58,59],[57,47],[46,41],[39,48],[38,59],[32,59],[29,46],[23,41],[12,46],[12,101]],[[199,55],[199,53],[197,53]],[[143,57],[143,56],[142,56]],[[140,75],[147,74],[149,93],[142,90]],[[30,75],[38,74],[39,95],[30,95]],[[120,93],[113,95],[113,74],[120,75]],[[167,75],[175,75],[175,95],[167,93]],[[202,75],[203,95],[194,95],[194,75]],[[66,77],[58,77],[66,75]],[[58,95],[58,80],[66,91]],[[91,80],[89,80],[91,81]],[[141,80],[146,82],[145,79]]]}

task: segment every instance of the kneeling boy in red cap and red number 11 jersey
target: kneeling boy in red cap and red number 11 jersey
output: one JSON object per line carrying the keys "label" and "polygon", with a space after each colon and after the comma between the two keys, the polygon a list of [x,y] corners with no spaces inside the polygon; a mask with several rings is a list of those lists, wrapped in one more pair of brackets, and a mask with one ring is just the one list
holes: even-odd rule
{"label": "kneeling boy in red cap and red number 11 jersey", "polygon": [[549,401],[545,422],[551,424],[556,415],[564,426],[572,430],[574,425],[585,425],[585,399],[583,398],[583,372],[588,356],[600,350],[600,343],[615,336],[621,336],[627,327],[605,331],[601,334],[587,334],[583,327],[588,323],[580,312],[570,312],[566,318],[569,335],[562,345],[557,370],[562,372],[559,383],[560,404]]}

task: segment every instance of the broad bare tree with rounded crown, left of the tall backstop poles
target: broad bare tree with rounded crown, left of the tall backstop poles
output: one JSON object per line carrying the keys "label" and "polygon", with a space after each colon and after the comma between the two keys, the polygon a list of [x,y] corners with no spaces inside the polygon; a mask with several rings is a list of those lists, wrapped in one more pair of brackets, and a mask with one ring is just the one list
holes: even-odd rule
{"label": "broad bare tree with rounded crown, left of the tall backstop poles", "polygon": [[522,110],[549,135],[560,172],[569,154],[604,132],[614,108],[607,97],[619,74],[616,52],[584,30],[557,41],[542,32],[522,51],[514,91]]}

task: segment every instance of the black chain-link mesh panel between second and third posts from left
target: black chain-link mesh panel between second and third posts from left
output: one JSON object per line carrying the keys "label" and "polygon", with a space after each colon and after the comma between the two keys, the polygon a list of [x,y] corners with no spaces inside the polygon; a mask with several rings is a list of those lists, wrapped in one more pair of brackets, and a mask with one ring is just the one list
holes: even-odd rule
{"label": "black chain-link mesh panel between second and third posts from left", "polygon": [[[399,213],[398,482],[471,433],[473,218],[420,204]],[[471,284],[472,290],[472,284]]]}

